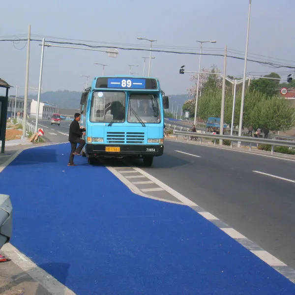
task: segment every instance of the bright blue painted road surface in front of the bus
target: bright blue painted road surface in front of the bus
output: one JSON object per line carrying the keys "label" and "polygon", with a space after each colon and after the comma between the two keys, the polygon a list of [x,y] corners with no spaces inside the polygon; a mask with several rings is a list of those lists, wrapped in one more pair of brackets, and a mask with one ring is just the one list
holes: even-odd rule
{"label": "bright blue painted road surface in front of the bus", "polygon": [[69,144],[23,151],[0,174],[11,243],[79,295],[292,295],[295,284],[186,206],[133,194]]}

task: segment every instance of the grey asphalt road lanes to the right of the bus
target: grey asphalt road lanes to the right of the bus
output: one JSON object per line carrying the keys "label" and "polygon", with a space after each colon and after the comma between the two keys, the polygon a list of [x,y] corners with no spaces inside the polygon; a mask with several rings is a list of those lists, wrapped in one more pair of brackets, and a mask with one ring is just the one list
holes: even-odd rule
{"label": "grey asphalt road lanes to the right of the bus", "polygon": [[295,268],[295,161],[166,141],[144,170]]}

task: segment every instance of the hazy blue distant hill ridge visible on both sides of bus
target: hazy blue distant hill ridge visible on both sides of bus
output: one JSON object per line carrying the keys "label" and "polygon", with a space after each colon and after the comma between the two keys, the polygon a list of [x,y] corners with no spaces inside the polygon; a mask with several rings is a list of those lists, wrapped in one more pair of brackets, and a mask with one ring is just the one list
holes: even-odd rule
{"label": "hazy blue distant hill ridge visible on both sides of bus", "polygon": [[[47,91],[41,93],[40,100],[42,102],[49,102],[56,104],[60,109],[79,109],[80,108],[80,99],[82,92],[78,91],[69,91],[69,90],[58,90],[58,91]],[[167,95],[167,94],[166,94]],[[172,110],[172,105],[174,104],[177,107],[178,104],[182,105],[187,99],[190,99],[187,94],[176,94],[168,95],[169,98],[169,110]],[[29,95],[29,98],[37,100],[38,95]],[[176,101],[176,102],[175,102]],[[180,106],[178,106],[180,110]]]}

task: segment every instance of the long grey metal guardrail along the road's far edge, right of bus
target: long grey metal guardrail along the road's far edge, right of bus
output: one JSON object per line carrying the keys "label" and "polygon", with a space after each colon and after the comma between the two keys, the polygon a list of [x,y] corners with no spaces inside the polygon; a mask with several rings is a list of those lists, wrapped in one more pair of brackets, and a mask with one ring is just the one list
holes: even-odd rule
{"label": "long grey metal guardrail along the road's far edge, right of bus", "polygon": [[234,135],[220,135],[220,134],[212,134],[212,133],[196,133],[196,132],[183,132],[183,131],[174,131],[173,134],[176,135],[176,140],[178,140],[178,136],[187,137],[187,141],[191,136],[202,138],[211,138],[214,140],[214,145],[216,145],[216,140],[230,140],[231,147],[232,142],[245,142],[250,143],[249,150],[251,150],[251,144],[262,144],[262,145],[270,145],[271,153],[273,153],[273,147],[288,147],[295,148],[295,141],[286,141],[286,140],[278,140],[278,139],[265,139],[265,138],[253,138],[248,136],[234,136]]}

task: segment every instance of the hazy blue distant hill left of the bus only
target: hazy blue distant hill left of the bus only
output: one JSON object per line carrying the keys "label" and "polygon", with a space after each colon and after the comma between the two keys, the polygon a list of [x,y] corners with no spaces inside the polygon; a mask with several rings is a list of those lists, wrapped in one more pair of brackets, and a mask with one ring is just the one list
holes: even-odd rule
{"label": "hazy blue distant hill left of the bus only", "polygon": [[[82,92],[58,90],[41,93],[40,100],[56,104],[61,109],[79,109]],[[37,100],[38,95],[29,95],[29,98]]]}

